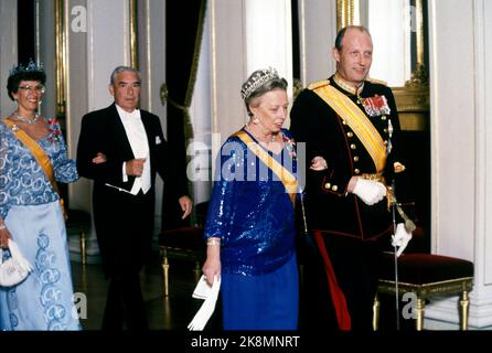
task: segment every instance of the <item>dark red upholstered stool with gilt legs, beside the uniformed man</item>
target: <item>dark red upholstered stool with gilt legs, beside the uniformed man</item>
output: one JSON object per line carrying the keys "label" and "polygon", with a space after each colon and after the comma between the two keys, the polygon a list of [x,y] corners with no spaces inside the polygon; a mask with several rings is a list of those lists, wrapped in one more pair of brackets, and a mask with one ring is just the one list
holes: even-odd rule
{"label": "dark red upholstered stool with gilt legs, beside the uniformed man", "polygon": [[[419,236],[421,229],[414,233]],[[411,240],[414,242],[414,239]],[[409,244],[411,244],[411,242]],[[411,248],[408,248],[411,250]],[[416,330],[424,328],[425,303],[431,297],[459,296],[460,329],[468,329],[469,298],[473,288],[473,263],[449,256],[405,252],[398,258],[398,293],[413,292],[417,297]],[[395,256],[384,253],[377,293],[395,295]],[[374,300],[374,330],[378,328],[379,300]]]}

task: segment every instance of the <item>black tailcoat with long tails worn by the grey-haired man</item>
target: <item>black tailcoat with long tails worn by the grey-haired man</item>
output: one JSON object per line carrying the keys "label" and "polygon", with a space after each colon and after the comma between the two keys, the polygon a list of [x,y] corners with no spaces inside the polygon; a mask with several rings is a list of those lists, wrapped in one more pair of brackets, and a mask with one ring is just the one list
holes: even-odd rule
{"label": "black tailcoat with long tails worn by the grey-haired man", "polygon": [[[159,173],[175,200],[185,192],[185,181],[177,179],[175,162],[168,152],[159,117],[145,110],[141,120],[149,143],[151,189],[137,196],[106,183],[130,191],[135,176],[122,179],[122,164],[135,159],[125,127],[113,104],[83,117],[77,147],[77,169],[82,176],[94,180],[93,206],[97,239],[108,275],[131,269],[138,271],[149,255],[154,221],[154,182]],[[107,157],[95,164],[97,152]]]}

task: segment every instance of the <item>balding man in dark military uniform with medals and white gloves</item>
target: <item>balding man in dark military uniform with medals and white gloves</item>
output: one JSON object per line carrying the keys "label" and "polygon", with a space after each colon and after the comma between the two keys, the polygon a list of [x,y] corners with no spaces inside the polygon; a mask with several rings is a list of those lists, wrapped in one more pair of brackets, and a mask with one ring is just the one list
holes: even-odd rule
{"label": "balding man in dark military uniform with medals and white gloves", "polygon": [[[306,142],[310,164],[308,225],[329,282],[320,304],[330,306],[331,296],[341,330],[372,329],[378,256],[394,233],[387,200],[394,176],[405,169],[397,159],[392,90],[367,78],[372,54],[365,28],[342,29],[333,49],[336,73],[302,90],[291,109],[291,132]],[[398,228],[393,243],[400,254],[411,233]]]}

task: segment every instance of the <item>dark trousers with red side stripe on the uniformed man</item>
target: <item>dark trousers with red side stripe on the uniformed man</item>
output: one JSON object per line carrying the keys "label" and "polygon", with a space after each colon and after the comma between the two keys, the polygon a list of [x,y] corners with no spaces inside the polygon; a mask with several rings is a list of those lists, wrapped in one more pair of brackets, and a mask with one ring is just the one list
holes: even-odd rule
{"label": "dark trousers with red side stripe on the uniformed man", "polygon": [[[381,240],[359,238],[323,232],[324,249],[331,261],[338,286],[345,297],[351,330],[372,331],[373,304],[381,264]],[[338,330],[335,307],[321,255],[304,265],[303,327]]]}

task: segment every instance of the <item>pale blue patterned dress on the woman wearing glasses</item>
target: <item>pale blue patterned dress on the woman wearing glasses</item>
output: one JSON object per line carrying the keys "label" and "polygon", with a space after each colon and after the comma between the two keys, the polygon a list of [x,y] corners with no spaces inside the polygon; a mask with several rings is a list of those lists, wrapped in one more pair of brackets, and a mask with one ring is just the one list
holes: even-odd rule
{"label": "pale blue patterned dress on the woman wearing glasses", "polygon": [[[75,161],[66,157],[58,124],[49,120],[49,131],[36,142],[50,157],[56,181],[76,181]],[[3,122],[0,122],[0,216],[34,267],[20,285],[0,287],[0,329],[81,330],[58,195],[32,153]],[[3,256],[7,258],[8,252]]]}

